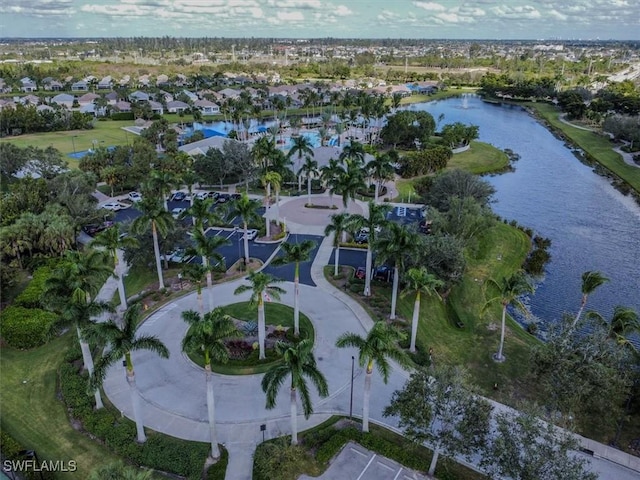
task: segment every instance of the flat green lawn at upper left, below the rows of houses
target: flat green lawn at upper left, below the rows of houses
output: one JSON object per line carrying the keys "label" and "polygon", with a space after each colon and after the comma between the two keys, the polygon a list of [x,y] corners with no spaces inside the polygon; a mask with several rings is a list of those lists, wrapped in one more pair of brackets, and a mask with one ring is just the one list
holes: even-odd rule
{"label": "flat green lawn at upper left, below the rows of houses", "polygon": [[[76,152],[89,150],[94,148],[93,141],[96,140],[98,145],[110,147],[112,145],[126,145],[133,143],[136,135],[127,133],[122,127],[133,126],[130,120],[107,120],[104,122],[94,122],[94,128],[91,130],[69,130],[65,132],[47,132],[47,133],[31,133],[28,135],[20,135],[17,137],[9,137],[2,139],[3,142],[13,143],[18,147],[38,147],[47,148],[52,146],[62,152],[63,155],[73,153],[75,144]],[[104,143],[102,143],[104,141]],[[70,167],[77,167],[78,161],[66,157]]]}

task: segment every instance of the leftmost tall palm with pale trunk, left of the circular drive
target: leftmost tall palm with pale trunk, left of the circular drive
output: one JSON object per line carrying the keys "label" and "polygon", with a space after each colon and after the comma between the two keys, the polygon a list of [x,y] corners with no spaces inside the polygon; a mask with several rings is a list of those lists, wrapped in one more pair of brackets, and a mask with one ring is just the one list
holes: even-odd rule
{"label": "leftmost tall palm with pale trunk, left of the circular drive", "polygon": [[[104,252],[69,251],[63,263],[45,282],[47,303],[60,313],[60,322],[76,327],[84,368],[89,376],[94,374],[93,357],[85,334],[93,324],[94,317],[112,310],[109,304],[95,300],[100,287],[111,273],[108,257]],[[98,389],[94,396],[96,408],[102,408],[104,405]]]}

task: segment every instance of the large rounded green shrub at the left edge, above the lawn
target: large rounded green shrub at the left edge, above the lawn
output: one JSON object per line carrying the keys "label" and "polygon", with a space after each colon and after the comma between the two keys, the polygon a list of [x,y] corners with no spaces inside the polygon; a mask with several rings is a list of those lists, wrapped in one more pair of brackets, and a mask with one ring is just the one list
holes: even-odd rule
{"label": "large rounded green shrub at the left edge, above the lawn", "polygon": [[9,307],[0,315],[0,335],[14,348],[38,347],[49,340],[56,319],[38,308]]}

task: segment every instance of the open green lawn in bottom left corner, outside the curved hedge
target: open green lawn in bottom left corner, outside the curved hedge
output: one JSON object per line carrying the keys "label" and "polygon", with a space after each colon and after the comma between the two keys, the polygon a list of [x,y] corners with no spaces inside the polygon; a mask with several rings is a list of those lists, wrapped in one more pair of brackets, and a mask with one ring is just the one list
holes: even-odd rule
{"label": "open green lawn in bottom left corner, outside the curved hedge", "polygon": [[28,351],[2,348],[0,405],[2,429],[40,460],[75,460],[78,470],[56,478],[87,478],[99,465],[117,460],[106,447],[76,431],[58,400],[57,370],[64,352],[77,341],[73,332]]}

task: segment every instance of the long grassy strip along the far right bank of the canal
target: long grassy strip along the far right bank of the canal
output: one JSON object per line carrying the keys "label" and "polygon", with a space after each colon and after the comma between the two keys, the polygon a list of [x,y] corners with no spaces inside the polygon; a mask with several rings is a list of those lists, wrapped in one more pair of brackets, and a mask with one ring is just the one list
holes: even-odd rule
{"label": "long grassy strip along the far right bank of the canal", "polygon": [[560,110],[546,103],[527,103],[553,128],[561,131],[572,142],[587,152],[594,160],[626,181],[632,189],[640,193],[640,168],[627,165],[620,155],[612,150],[611,141],[594,132],[567,125],[559,119]]}

